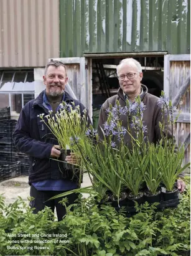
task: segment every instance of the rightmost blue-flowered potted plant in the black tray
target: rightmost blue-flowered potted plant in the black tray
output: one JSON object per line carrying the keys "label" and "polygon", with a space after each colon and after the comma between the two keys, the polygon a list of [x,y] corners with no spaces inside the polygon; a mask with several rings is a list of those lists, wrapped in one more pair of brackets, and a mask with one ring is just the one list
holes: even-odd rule
{"label": "rightmost blue-flowered potted plant in the black tray", "polygon": [[[184,145],[177,146],[174,140],[173,126],[179,118],[180,111],[177,117],[174,118],[174,113],[177,113],[177,108],[172,105],[172,101],[169,100],[169,98],[165,97],[164,92],[161,94],[158,105],[162,109],[162,123],[159,123],[162,136],[159,147],[161,148],[161,171],[162,183],[164,184],[162,197],[164,201],[167,201],[179,198],[179,191],[175,186],[175,181],[179,177],[179,174],[190,166],[190,163],[182,166],[182,161],[184,160]],[[172,133],[172,139],[165,136],[168,130]]]}

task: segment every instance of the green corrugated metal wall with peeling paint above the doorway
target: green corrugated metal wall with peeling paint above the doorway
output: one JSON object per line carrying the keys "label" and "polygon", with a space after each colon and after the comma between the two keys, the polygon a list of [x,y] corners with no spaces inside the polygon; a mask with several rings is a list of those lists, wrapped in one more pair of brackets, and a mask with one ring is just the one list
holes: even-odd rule
{"label": "green corrugated metal wall with peeling paint above the doorway", "polygon": [[60,57],[190,53],[190,0],[60,0]]}

